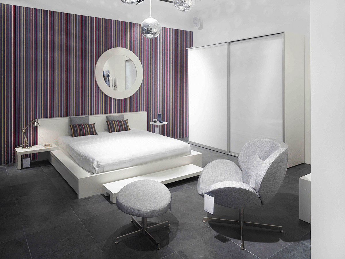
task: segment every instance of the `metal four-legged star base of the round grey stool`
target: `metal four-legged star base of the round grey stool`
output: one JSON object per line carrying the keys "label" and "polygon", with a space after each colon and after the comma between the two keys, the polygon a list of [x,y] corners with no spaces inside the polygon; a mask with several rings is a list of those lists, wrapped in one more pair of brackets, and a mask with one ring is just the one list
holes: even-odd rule
{"label": "metal four-legged star base of the round grey stool", "polygon": [[132,217],[131,222],[134,224],[134,226],[139,228],[139,230],[135,230],[135,231],[132,231],[132,232],[129,232],[127,234],[124,234],[122,236],[117,237],[115,240],[115,243],[117,244],[118,242],[120,242],[124,239],[134,237],[134,236],[137,236],[137,235],[142,233],[142,234],[145,234],[156,245],[157,249],[160,249],[158,241],[154,237],[151,236],[151,234],[148,232],[148,230],[154,230],[157,228],[170,226],[170,222],[168,220],[168,221],[147,227],[146,226],[146,219],[147,218],[141,218],[141,224],[140,224],[135,218]]}

